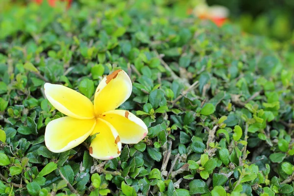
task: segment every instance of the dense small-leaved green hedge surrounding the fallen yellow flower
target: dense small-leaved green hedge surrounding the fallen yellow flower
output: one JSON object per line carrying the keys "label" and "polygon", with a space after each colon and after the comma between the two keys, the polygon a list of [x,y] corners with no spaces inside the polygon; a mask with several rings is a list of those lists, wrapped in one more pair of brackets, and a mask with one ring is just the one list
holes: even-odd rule
{"label": "dense small-leaved green hedge surrounding the fallen yellow flower", "polygon": [[[167,17],[144,0],[111,1],[0,14],[1,196],[293,195],[287,51],[233,25]],[[120,108],[144,120],[147,137],[109,161],[93,159],[87,142],[50,152],[45,127],[63,114],[44,83],[90,98],[118,68],[133,81]]]}

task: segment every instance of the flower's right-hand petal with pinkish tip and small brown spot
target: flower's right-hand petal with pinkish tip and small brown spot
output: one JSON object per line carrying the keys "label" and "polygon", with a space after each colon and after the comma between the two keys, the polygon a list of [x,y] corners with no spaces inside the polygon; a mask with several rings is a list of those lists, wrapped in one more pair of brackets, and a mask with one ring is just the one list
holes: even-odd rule
{"label": "flower's right-hand petal with pinkish tip and small brown spot", "polygon": [[101,118],[114,126],[123,144],[137,144],[148,133],[146,124],[134,114],[125,110],[105,112],[101,115]]}

